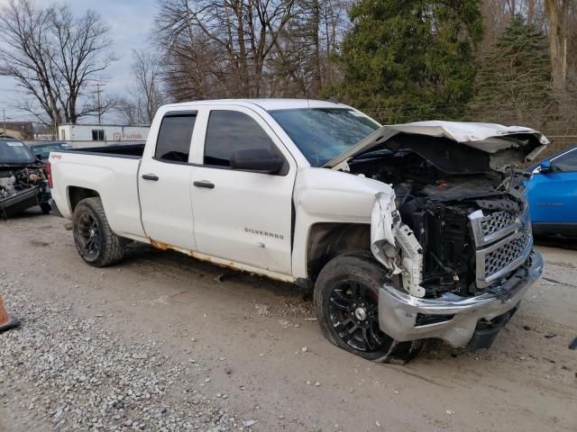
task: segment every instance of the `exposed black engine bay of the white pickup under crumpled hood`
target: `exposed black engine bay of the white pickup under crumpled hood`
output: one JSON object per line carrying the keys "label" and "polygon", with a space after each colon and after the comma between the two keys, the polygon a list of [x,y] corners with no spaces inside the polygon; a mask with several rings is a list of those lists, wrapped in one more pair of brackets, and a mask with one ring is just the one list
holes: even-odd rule
{"label": "exposed black engine bay of the white pickup under crumpled hood", "polygon": [[[420,286],[425,297],[479,295],[477,248],[471,215],[506,214],[515,220],[526,206],[522,171],[471,172],[474,163],[447,172],[412,150],[377,149],[349,163],[350,172],[390,184],[400,219],[422,247]],[[500,227],[498,227],[500,229]]]}

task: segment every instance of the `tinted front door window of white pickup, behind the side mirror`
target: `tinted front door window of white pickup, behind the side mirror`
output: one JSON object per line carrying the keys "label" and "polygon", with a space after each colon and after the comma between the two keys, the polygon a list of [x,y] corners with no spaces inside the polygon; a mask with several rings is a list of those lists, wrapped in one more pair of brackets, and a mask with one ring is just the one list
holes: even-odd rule
{"label": "tinted front door window of white pickup, behind the side mirror", "polygon": [[205,165],[231,166],[236,150],[267,148],[279,153],[259,123],[243,112],[214,110],[208,117]]}

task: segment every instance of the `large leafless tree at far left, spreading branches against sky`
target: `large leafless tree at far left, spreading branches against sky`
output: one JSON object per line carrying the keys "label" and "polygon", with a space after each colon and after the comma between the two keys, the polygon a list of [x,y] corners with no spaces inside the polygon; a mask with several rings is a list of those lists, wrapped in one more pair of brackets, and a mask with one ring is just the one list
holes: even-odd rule
{"label": "large leafless tree at far left, spreading branches against sky", "polygon": [[[95,113],[87,85],[115,59],[108,31],[96,12],[76,18],[68,5],[8,0],[0,7],[0,75],[14,77],[30,96],[20,108],[54,128]],[[100,112],[113,104],[101,101]]]}

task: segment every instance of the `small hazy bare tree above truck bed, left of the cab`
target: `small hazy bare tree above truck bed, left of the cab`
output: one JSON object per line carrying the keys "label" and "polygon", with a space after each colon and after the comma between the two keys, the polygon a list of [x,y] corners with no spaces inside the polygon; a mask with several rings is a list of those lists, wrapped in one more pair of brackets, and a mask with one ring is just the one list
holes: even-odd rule
{"label": "small hazy bare tree above truck bed, left of the cab", "polygon": [[133,50],[133,85],[130,95],[119,101],[119,110],[127,124],[150,124],[164,103],[160,89],[160,58],[145,50]]}

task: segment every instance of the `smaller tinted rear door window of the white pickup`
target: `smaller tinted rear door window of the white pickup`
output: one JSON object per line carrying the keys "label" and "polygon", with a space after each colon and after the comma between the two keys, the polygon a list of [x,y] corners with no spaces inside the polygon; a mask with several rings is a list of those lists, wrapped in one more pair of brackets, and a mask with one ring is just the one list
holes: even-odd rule
{"label": "smaller tinted rear door window of the white pickup", "polygon": [[188,162],[196,120],[196,113],[165,115],[160,123],[154,157],[167,162]]}

